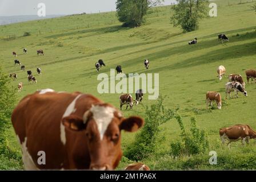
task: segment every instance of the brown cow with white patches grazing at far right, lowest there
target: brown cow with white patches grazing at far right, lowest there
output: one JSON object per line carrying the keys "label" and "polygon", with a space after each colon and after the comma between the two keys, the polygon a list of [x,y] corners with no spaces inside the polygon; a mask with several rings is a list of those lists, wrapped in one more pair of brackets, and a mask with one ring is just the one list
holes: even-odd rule
{"label": "brown cow with white patches grazing at far right, lowest there", "polygon": [[251,129],[249,125],[234,125],[231,127],[224,127],[219,130],[221,141],[225,144],[228,141],[229,149],[230,143],[242,140],[242,144],[249,143],[249,139],[256,138],[256,132]]}

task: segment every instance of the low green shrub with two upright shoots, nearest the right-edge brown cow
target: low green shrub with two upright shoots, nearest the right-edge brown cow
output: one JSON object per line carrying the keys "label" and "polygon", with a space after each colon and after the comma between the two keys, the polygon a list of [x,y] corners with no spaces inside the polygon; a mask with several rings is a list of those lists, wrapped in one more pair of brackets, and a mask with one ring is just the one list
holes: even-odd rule
{"label": "low green shrub with two upright shoots, nearest the right-edge brown cow", "polygon": [[180,155],[203,154],[209,148],[209,142],[206,132],[198,129],[195,117],[191,117],[192,127],[189,134],[185,130],[181,115],[177,114],[175,118],[181,128],[182,142],[171,142],[170,154],[174,158]]}

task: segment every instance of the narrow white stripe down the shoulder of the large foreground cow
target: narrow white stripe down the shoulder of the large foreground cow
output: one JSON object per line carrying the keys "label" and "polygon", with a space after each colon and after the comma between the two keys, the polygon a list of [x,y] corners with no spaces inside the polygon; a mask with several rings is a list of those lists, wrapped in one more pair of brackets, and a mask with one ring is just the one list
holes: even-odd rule
{"label": "narrow white stripe down the shoulder of the large foreground cow", "polygon": [[[75,103],[77,102],[78,98],[81,97],[82,94],[79,94],[75,99],[71,102],[69,106],[67,106],[67,109],[65,113],[63,114],[62,118],[68,117],[70,114],[74,113],[75,110]],[[66,144],[66,133],[65,133],[65,126],[61,122],[61,142],[65,145]]]}

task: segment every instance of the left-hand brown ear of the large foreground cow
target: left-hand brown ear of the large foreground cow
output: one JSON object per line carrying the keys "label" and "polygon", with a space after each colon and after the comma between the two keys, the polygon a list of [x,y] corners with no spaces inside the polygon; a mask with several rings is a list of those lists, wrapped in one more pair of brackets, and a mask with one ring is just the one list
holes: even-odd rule
{"label": "left-hand brown ear of the large foreground cow", "polygon": [[86,129],[86,123],[83,122],[81,117],[77,115],[69,115],[62,119],[63,125],[73,131],[82,131]]}

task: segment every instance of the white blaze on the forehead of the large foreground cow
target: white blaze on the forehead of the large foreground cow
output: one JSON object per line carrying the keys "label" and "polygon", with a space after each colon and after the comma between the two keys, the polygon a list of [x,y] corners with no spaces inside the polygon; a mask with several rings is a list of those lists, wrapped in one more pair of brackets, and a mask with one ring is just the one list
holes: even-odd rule
{"label": "white blaze on the forehead of the large foreground cow", "polygon": [[113,107],[92,106],[90,111],[93,113],[93,119],[98,126],[99,135],[102,140],[107,127],[114,118],[116,110]]}

